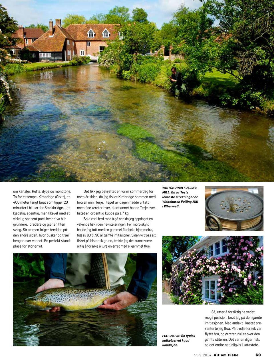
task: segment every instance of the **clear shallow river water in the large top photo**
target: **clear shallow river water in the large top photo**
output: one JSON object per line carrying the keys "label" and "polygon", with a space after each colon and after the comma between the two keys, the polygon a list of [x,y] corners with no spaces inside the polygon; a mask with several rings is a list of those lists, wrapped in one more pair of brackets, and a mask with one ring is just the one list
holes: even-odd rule
{"label": "clear shallow river water in the large top photo", "polygon": [[[79,181],[183,180],[180,162],[167,165],[166,153],[192,155],[201,172],[207,170],[201,165],[214,159],[218,181],[230,181],[220,164],[247,181],[273,181],[274,122],[265,116],[204,101],[184,103],[157,87],[117,79],[97,64],[12,79],[21,93],[0,125],[2,181],[36,180],[46,170],[62,170]],[[144,152],[119,132],[125,123],[151,136],[143,138]],[[149,146],[146,152],[151,142],[163,159],[154,159]],[[210,175],[201,180],[214,181]]]}

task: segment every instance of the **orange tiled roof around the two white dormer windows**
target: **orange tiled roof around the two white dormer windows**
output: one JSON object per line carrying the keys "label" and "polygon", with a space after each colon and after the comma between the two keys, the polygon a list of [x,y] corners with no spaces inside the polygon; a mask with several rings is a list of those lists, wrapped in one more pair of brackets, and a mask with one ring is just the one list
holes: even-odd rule
{"label": "orange tiled roof around the two white dormer windows", "polygon": [[[66,30],[71,34],[75,41],[102,41],[114,40],[117,36],[119,24],[76,24],[68,25]],[[92,29],[95,32],[94,37],[87,37],[87,32]],[[103,37],[102,32],[107,29],[110,32],[110,37]]]}

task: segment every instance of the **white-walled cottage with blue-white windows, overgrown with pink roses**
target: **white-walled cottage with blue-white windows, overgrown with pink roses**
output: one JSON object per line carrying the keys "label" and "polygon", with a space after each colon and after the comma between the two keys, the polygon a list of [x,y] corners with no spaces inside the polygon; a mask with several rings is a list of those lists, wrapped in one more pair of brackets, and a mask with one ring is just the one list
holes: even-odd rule
{"label": "white-walled cottage with blue-white windows, overgrown with pink roses", "polygon": [[174,262],[171,286],[183,303],[221,303],[260,285],[262,267],[263,236],[203,236]]}

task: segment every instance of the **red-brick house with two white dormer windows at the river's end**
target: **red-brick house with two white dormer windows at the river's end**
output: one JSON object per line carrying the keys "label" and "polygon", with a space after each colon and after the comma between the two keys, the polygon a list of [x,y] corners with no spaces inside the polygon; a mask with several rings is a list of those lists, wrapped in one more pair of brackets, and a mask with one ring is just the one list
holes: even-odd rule
{"label": "red-brick house with two white dormer windows at the river's end", "polygon": [[107,46],[107,40],[115,40],[119,24],[77,24],[69,25],[66,30],[75,39],[75,54],[90,56],[98,60],[100,52]]}

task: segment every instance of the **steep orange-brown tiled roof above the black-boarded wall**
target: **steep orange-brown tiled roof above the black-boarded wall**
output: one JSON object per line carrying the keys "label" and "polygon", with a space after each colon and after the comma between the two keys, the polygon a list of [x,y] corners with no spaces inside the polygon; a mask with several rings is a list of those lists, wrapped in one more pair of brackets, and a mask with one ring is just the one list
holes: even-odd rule
{"label": "steep orange-brown tiled roof above the black-boarded wall", "polygon": [[[40,52],[61,52],[66,38],[73,40],[70,34],[58,25],[53,27],[53,36],[50,37],[50,31],[45,32],[35,41],[35,47]],[[31,50],[30,50],[31,51]]]}

